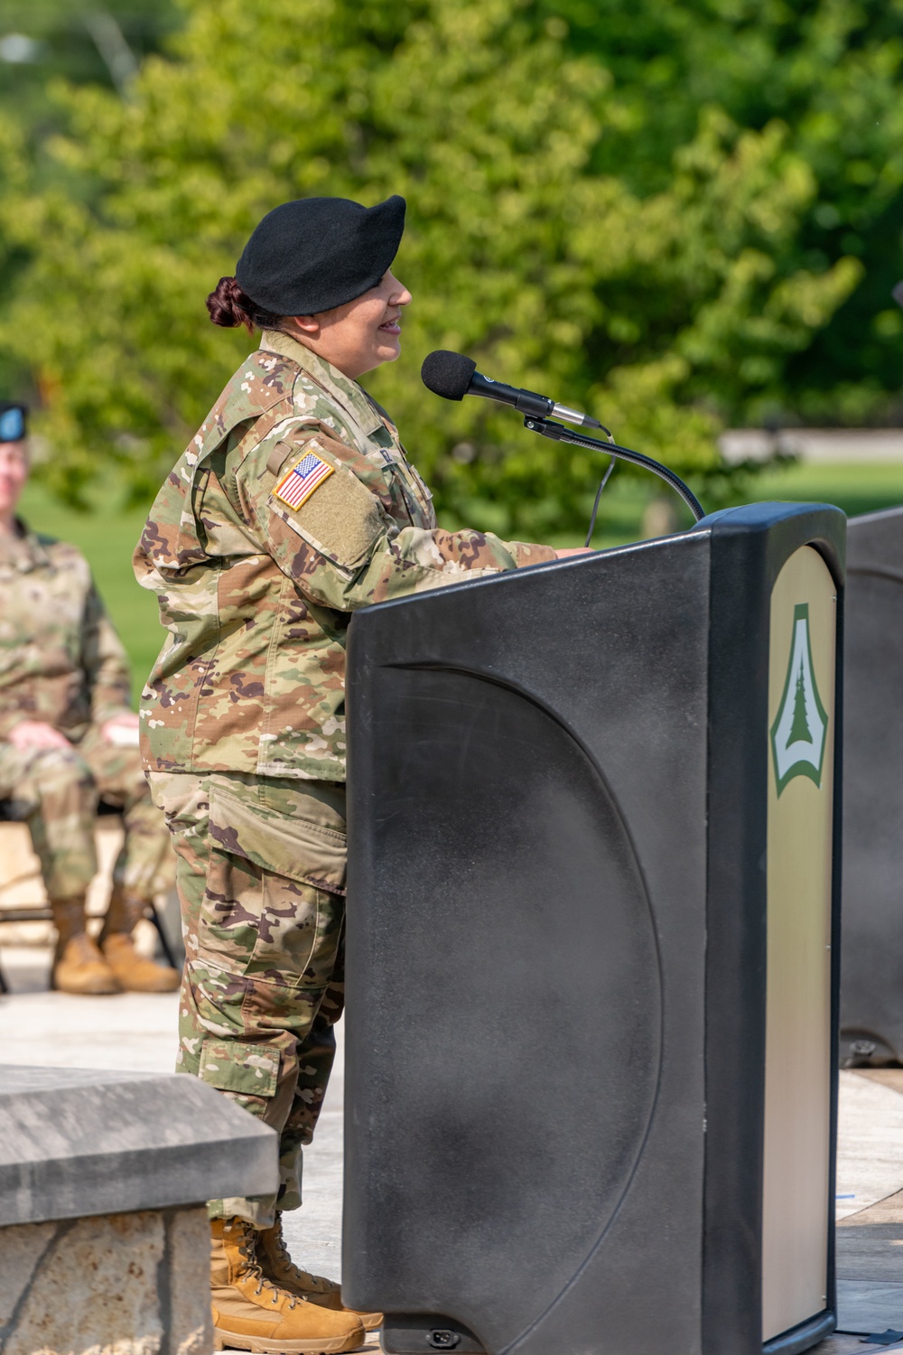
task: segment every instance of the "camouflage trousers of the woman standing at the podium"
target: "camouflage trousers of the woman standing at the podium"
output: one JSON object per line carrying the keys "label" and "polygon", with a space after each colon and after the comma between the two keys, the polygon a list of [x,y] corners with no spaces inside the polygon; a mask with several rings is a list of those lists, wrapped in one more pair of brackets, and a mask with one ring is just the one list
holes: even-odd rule
{"label": "camouflage trousers of the woman standing at the podium", "polygon": [[177,1070],[279,1133],[275,1195],[210,1202],[272,1225],[301,1205],[344,1005],[345,787],[222,772],[149,772],[176,848],[185,969]]}

